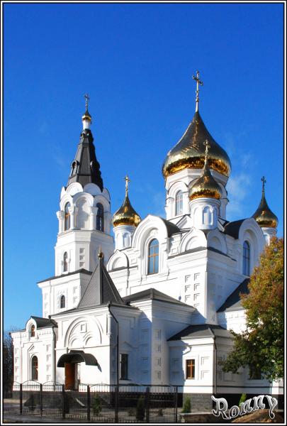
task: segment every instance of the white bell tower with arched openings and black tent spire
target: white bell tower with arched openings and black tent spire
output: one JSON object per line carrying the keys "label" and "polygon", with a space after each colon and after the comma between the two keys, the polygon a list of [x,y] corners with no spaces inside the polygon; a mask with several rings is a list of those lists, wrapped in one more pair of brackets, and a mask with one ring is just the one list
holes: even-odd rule
{"label": "white bell tower with arched openings and black tent spire", "polygon": [[111,200],[103,187],[91,133],[89,97],[82,116],[77,152],[72,161],[66,187],[62,187],[60,210],[57,212],[59,232],[55,246],[55,275],[72,273],[81,268],[94,271],[99,249],[105,261],[113,253]]}

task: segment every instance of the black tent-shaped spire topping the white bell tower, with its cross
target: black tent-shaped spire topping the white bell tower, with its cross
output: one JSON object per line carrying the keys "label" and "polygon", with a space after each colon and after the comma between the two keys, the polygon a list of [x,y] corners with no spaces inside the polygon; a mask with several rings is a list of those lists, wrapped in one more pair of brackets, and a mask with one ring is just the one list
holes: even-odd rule
{"label": "black tent-shaped spire topping the white bell tower, with its cross", "polygon": [[82,187],[87,183],[95,183],[103,191],[103,180],[99,161],[96,159],[94,138],[90,130],[91,115],[88,111],[89,95],[84,95],[86,99],[86,111],[81,117],[83,130],[81,131],[77,153],[71,165],[67,186],[73,182],[79,182]]}

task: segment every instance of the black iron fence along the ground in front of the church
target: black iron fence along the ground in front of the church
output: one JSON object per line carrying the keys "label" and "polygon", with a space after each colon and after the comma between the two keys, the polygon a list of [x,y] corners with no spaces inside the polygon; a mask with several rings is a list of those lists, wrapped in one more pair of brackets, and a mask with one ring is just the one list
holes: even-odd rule
{"label": "black iron fence along the ground in front of the church", "polygon": [[108,385],[81,383],[67,390],[57,382],[13,383],[18,403],[4,411],[41,417],[99,423],[174,423],[177,421],[176,386]]}

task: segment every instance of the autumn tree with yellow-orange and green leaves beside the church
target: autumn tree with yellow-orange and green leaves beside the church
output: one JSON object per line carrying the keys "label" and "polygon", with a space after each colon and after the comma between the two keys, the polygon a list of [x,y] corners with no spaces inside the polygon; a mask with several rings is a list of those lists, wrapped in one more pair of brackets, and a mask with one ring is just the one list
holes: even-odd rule
{"label": "autumn tree with yellow-orange and green leaves beside the church", "polygon": [[283,239],[273,238],[250,277],[249,294],[240,295],[246,329],[235,337],[223,371],[249,366],[269,381],[283,378]]}

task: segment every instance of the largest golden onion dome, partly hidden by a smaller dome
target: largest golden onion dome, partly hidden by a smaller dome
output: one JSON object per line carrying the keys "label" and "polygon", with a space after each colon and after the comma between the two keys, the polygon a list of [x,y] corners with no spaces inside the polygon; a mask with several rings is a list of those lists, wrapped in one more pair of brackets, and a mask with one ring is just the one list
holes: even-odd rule
{"label": "largest golden onion dome, partly hidden by a smaller dome", "polygon": [[199,112],[196,111],[184,136],[167,153],[167,158],[162,167],[164,178],[186,168],[203,168],[205,155],[204,141],[206,139],[210,143],[210,151],[208,153],[210,169],[229,177],[231,172],[230,158],[225,150],[215,142],[208,129],[206,129]]}

